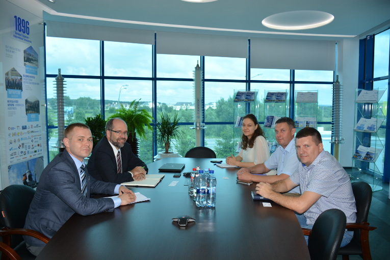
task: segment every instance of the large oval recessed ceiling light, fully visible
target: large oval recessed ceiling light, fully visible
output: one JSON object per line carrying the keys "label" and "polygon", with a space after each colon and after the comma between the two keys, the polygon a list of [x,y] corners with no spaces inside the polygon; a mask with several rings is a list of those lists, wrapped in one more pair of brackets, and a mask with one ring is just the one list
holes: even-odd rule
{"label": "large oval recessed ceiling light, fully visible", "polygon": [[321,11],[291,11],[265,18],[265,27],[277,30],[305,30],[321,27],[333,21],[334,16]]}

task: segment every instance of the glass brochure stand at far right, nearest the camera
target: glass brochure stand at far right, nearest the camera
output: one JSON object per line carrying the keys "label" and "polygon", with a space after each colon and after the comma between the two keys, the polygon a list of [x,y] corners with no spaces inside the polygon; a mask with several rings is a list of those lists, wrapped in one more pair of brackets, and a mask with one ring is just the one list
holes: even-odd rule
{"label": "glass brochure stand at far right, nearest the camera", "polygon": [[[383,97],[386,89],[355,93],[355,127],[352,155],[352,181],[366,181],[373,191],[382,190],[385,121]],[[372,177],[370,176],[372,175]]]}

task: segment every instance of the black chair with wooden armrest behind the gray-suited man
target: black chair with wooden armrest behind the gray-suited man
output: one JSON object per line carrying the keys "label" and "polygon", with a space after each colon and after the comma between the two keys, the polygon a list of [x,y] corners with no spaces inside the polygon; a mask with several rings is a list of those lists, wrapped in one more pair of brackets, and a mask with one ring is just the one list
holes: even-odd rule
{"label": "black chair with wooden armrest behind the gray-suited man", "polygon": [[[11,185],[0,193],[0,221],[3,228],[0,236],[0,251],[3,259],[35,259],[21,235],[30,236],[47,243],[49,241],[40,232],[25,229],[24,222],[29,212],[35,190],[25,185]],[[7,257],[8,256],[8,257]]]}

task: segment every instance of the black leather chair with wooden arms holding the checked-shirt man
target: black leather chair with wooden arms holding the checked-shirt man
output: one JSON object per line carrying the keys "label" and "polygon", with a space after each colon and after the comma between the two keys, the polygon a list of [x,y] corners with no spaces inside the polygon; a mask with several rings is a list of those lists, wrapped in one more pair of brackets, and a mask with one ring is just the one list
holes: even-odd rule
{"label": "black leather chair with wooden arms holding the checked-shirt man", "polygon": [[353,230],[351,242],[339,249],[343,260],[348,260],[349,255],[360,255],[363,260],[371,259],[369,231],[376,229],[367,222],[371,206],[372,189],[363,181],[352,183],[353,195],[356,201],[356,223],[347,223],[347,228]]}

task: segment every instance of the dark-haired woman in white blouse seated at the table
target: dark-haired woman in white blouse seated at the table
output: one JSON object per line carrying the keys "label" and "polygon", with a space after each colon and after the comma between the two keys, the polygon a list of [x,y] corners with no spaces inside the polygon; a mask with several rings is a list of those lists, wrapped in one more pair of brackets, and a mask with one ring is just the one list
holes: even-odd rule
{"label": "dark-haired woman in white blouse seated at the table", "polygon": [[226,163],[238,167],[251,167],[267,161],[270,157],[267,140],[262,127],[253,114],[244,116],[242,122],[242,140],[239,154],[226,158]]}

